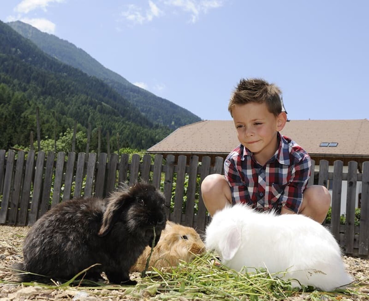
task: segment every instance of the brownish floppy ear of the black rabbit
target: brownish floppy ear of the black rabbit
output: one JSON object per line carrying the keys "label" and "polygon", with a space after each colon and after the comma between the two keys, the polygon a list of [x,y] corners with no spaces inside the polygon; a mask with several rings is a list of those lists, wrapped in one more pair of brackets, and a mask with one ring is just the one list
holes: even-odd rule
{"label": "brownish floppy ear of the black rabbit", "polygon": [[105,236],[111,230],[111,227],[117,221],[119,214],[121,212],[121,207],[124,204],[124,200],[127,198],[127,193],[125,192],[114,192],[108,199],[108,206],[103,215],[103,222],[101,223],[101,228],[98,233],[99,236]]}

